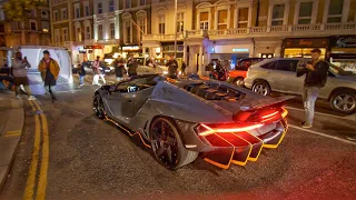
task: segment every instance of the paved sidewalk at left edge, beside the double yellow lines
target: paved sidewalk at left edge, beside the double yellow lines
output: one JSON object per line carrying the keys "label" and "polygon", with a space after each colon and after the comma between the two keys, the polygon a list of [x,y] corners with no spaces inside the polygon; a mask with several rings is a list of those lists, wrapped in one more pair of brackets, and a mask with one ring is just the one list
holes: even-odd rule
{"label": "paved sidewalk at left edge, beside the double yellow lines", "polygon": [[23,124],[22,100],[0,91],[0,190],[10,172]]}

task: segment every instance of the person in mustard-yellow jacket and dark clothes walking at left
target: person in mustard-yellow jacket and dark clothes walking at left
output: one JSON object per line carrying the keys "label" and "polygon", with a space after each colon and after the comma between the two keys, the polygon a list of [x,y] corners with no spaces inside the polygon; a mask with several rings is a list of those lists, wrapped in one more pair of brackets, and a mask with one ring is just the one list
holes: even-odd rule
{"label": "person in mustard-yellow jacket and dark clothes walking at left", "polygon": [[52,102],[56,102],[57,98],[53,92],[53,87],[57,84],[60,68],[58,66],[58,62],[50,57],[48,50],[43,51],[43,58],[38,66],[38,70],[42,74],[42,80],[44,80],[44,88],[51,94]]}

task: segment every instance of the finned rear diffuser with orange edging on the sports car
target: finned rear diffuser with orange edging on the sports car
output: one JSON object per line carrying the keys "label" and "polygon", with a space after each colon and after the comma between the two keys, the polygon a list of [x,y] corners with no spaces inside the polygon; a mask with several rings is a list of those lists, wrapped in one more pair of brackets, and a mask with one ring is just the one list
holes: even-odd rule
{"label": "finned rear diffuser with orange edging on the sports car", "polygon": [[206,139],[217,148],[202,153],[204,160],[222,169],[228,169],[231,163],[245,166],[247,161],[257,161],[263,148],[275,149],[279,146],[287,129],[287,122],[283,120],[280,129],[260,137],[248,132],[208,136]]}

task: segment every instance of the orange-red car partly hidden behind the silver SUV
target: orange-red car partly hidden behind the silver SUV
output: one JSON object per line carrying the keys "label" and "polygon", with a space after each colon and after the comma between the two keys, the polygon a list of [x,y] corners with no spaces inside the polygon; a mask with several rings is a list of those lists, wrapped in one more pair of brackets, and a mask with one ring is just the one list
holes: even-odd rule
{"label": "orange-red car partly hidden behind the silver SUV", "polygon": [[263,61],[263,58],[245,58],[240,59],[234,70],[229,71],[228,82],[237,86],[244,86],[244,79],[247,76],[247,70],[250,66]]}

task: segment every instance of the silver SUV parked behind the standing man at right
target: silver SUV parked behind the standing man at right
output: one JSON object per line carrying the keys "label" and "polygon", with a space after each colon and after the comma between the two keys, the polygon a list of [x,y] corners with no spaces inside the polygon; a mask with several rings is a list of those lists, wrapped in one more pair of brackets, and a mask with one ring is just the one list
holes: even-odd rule
{"label": "silver SUV parked behind the standing man at right", "polygon": [[[247,71],[245,87],[268,96],[271,91],[301,94],[305,76],[297,77],[298,58],[274,58],[251,66]],[[330,64],[326,86],[318,98],[329,101],[330,107],[342,113],[356,110],[356,76]]]}

